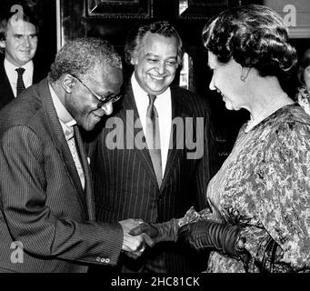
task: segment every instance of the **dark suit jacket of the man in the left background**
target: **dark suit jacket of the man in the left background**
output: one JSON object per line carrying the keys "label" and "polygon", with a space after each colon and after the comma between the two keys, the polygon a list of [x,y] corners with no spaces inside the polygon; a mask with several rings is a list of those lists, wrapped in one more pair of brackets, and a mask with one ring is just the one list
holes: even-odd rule
{"label": "dark suit jacket of the man in the left background", "polygon": [[[39,82],[45,77],[37,65],[34,65],[33,84]],[[15,99],[10,81],[5,73],[4,59],[0,59],[0,109]]]}

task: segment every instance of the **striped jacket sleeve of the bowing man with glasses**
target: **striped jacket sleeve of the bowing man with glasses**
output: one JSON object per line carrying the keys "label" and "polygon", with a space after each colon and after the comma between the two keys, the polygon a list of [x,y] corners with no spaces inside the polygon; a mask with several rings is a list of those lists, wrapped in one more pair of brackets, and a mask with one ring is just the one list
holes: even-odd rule
{"label": "striped jacket sleeve of the bowing man with glasses", "polygon": [[[96,263],[95,257],[100,256],[109,257],[110,262],[105,263],[115,265],[123,243],[118,223],[55,216],[47,206],[51,189],[45,176],[45,150],[42,140],[27,126],[11,127],[1,137],[1,210],[12,238],[21,241],[33,256],[87,263]],[[60,196],[69,190],[64,189]],[[55,209],[62,207],[61,198],[48,203]]]}

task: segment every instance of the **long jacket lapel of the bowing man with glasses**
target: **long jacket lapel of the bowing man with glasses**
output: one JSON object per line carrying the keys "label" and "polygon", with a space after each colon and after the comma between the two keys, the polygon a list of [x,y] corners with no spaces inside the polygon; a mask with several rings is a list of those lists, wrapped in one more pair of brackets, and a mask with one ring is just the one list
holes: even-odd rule
{"label": "long jacket lapel of the bowing man with glasses", "polygon": [[[67,145],[67,142],[65,140],[65,135],[62,126],[60,125],[58,116],[55,111],[54,103],[52,100],[52,96],[50,94],[49,88],[48,88],[48,82],[47,79],[44,79],[42,82],[38,84],[39,86],[39,95],[42,99],[43,108],[46,115],[46,124],[48,126],[50,135],[52,137],[53,143],[55,147],[58,150],[59,155],[61,156],[63,163],[65,165],[65,168],[68,172],[68,176],[75,187],[77,196],[79,196],[81,201],[81,206],[83,207],[85,211],[85,216],[87,217],[88,211],[85,203],[85,194],[83,187],[81,185],[80,178],[77,174],[76,168],[75,168],[75,162],[73,160],[73,157],[71,155],[69,146]],[[84,165],[83,165],[84,166]],[[87,168],[87,167],[86,167]],[[85,181],[88,181],[89,173],[88,175],[85,173]]]}

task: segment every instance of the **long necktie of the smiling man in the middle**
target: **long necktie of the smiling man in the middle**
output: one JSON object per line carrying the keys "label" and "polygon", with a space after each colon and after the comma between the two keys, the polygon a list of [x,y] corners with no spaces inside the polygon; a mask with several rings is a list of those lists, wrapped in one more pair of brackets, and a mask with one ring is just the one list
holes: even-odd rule
{"label": "long necktie of the smiling man in the middle", "polygon": [[160,149],[160,132],[158,113],[154,106],[155,95],[148,95],[149,104],[146,110],[146,143],[152,159],[158,187],[162,185],[162,155]]}

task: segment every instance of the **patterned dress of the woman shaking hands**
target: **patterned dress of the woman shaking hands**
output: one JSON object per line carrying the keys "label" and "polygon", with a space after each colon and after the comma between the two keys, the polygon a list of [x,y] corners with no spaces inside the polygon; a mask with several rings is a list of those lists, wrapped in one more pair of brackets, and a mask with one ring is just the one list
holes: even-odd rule
{"label": "patterned dress of the woman shaking hands", "polygon": [[305,111],[285,105],[248,133],[244,125],[210,181],[207,199],[212,211],[205,216],[242,226],[250,260],[245,264],[212,251],[206,272],[310,271],[310,117]]}

